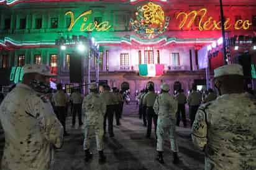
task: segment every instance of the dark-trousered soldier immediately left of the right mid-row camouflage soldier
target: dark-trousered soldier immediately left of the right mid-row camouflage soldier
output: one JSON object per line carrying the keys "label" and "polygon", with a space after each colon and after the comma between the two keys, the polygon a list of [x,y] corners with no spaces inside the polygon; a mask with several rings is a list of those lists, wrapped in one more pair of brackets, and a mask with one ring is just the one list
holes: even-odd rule
{"label": "dark-trousered soldier immediately left of the right mid-row camouflage soldier", "polygon": [[147,106],[147,135],[146,138],[150,138],[151,130],[152,130],[152,119],[155,127],[155,134],[157,132],[157,115],[155,114],[155,111],[153,110],[153,104],[155,103],[155,98],[157,97],[157,94],[155,94],[154,87],[150,84],[148,86],[149,92],[145,94],[143,98],[143,105]]}

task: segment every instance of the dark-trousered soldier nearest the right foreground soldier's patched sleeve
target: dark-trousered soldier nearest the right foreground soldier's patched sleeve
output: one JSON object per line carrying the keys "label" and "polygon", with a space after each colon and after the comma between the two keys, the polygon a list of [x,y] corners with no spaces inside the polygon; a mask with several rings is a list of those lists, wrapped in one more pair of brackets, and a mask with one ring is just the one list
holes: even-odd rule
{"label": "dark-trousered soldier nearest the right foreground soldier's patched sleeve", "polygon": [[196,86],[193,85],[192,92],[188,95],[188,105],[190,110],[190,126],[192,127],[194,122],[194,117],[196,116],[196,112],[198,111],[198,107],[201,104],[201,94],[196,91]]}

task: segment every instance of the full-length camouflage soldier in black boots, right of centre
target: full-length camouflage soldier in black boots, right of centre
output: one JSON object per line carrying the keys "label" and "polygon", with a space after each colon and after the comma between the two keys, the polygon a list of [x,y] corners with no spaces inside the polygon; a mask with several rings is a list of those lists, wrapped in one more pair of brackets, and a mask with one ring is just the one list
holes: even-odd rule
{"label": "full-length camouflage soldier in black boots, right of centre", "polygon": [[161,94],[155,100],[153,109],[158,115],[157,120],[157,160],[163,164],[163,137],[167,132],[170,138],[171,150],[173,151],[173,164],[178,164],[178,144],[175,134],[175,114],[178,108],[178,102],[173,96],[168,94],[170,87],[168,84],[162,84]]}

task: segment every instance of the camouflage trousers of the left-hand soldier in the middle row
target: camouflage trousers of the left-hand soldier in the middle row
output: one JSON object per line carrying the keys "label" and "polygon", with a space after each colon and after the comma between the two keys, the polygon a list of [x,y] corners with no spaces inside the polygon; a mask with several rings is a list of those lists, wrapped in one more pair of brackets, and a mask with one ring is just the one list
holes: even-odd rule
{"label": "camouflage trousers of the left-hand soldier in the middle row", "polygon": [[103,150],[103,123],[99,123],[99,125],[85,125],[85,140],[83,142],[84,150],[89,149],[89,141],[93,138],[94,133],[96,135],[97,150]]}

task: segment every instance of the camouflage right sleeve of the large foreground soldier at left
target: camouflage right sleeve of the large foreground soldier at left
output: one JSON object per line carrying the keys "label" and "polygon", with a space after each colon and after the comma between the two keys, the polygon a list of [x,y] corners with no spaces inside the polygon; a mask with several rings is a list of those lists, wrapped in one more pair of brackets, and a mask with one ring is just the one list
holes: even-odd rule
{"label": "camouflage right sleeve of the large foreground soldier at left", "polygon": [[52,105],[40,97],[30,97],[30,114],[39,120],[40,131],[56,148],[63,143],[63,127],[53,112]]}

